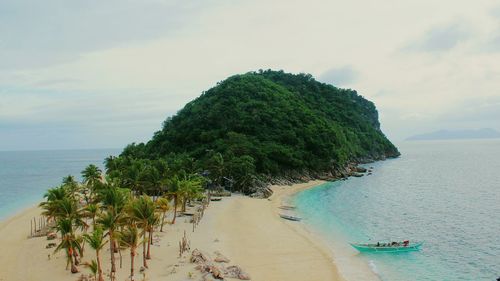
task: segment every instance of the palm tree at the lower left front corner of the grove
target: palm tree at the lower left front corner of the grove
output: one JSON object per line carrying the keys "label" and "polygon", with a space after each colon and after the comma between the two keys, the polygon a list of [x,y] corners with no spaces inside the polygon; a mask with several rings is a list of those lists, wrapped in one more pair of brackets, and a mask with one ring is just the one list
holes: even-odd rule
{"label": "palm tree at the lower left front corner of the grove", "polygon": [[73,257],[75,256],[75,251],[81,253],[82,249],[80,246],[81,239],[75,235],[73,230],[73,219],[62,218],[58,220],[56,229],[61,233],[61,243],[59,243],[54,252],[65,249],[67,258],[66,268],[68,264],[71,264],[71,273],[77,273],[78,268],[75,265],[75,261],[73,261]]}

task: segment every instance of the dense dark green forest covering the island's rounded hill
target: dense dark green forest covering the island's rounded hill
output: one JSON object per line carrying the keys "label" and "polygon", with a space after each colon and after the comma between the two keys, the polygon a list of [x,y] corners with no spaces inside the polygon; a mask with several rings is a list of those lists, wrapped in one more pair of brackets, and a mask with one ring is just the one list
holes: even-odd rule
{"label": "dense dark green forest covering the island's rounded hill", "polygon": [[350,163],[398,155],[374,104],[356,91],[266,70],[217,83],[167,118],[148,143],[128,145],[107,165],[113,173],[142,161],[250,192],[273,178],[336,174]]}

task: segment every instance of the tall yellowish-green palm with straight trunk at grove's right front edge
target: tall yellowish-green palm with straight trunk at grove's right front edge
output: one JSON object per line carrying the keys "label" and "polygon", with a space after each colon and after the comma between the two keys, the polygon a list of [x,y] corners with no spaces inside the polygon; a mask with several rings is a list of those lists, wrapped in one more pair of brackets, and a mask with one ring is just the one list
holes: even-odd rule
{"label": "tall yellowish-green palm with straight trunk at grove's right front edge", "polygon": [[[147,243],[148,248],[149,248],[149,238],[151,237],[148,236],[146,238],[146,234],[148,231],[151,230],[151,223],[154,222],[153,217],[156,216],[155,214],[155,206],[151,198],[147,195],[140,196],[133,201],[131,201],[129,205],[129,216],[133,221],[136,221],[138,226],[142,228],[142,237],[144,240],[144,243]],[[143,244],[142,247],[142,255],[143,255],[143,266],[145,268],[148,268],[148,264],[146,262],[146,259],[150,258],[146,255],[146,244]]]}

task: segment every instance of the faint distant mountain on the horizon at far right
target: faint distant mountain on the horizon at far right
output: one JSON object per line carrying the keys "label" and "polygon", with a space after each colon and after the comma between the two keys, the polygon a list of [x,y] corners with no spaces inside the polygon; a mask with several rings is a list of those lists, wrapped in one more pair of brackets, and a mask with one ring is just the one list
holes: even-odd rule
{"label": "faint distant mountain on the horizon at far right", "polygon": [[452,139],[493,139],[500,138],[500,132],[485,128],[478,130],[439,130],[432,133],[415,135],[406,140],[452,140]]}

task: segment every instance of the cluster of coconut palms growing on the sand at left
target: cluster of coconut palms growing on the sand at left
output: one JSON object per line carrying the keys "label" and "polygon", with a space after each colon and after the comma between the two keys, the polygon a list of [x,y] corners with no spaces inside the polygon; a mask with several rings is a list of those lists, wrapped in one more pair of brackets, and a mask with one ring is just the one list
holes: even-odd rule
{"label": "cluster of coconut palms growing on the sand at left", "polygon": [[[107,159],[106,163],[110,161]],[[111,279],[116,272],[116,254],[127,250],[130,252],[130,277],[133,280],[134,257],[142,246],[141,265],[148,268],[153,232],[155,229],[163,231],[166,212],[173,206],[185,210],[190,201],[201,200],[205,196],[201,176],[170,177],[168,173],[158,174],[156,168],[147,167],[151,163],[140,162],[133,167],[137,168],[137,165],[142,165],[137,177],[121,178],[123,181],[120,181],[113,173],[104,176],[97,166],[91,164],[82,171],[82,182],[75,181],[70,175],[63,179],[60,186],[49,189],[45,194],[46,200],[40,204],[42,214],[59,234],[61,239],[55,252],[64,251],[66,267],[72,273],[79,272],[79,257],[85,251],[94,251],[96,260],[83,266],[88,267],[97,280],[104,280],[102,268],[108,261],[101,260],[100,251],[109,247]],[[151,171],[155,172],[151,174]],[[123,185],[124,181],[131,185]],[[139,186],[156,187],[157,196],[148,196]],[[170,188],[162,189],[164,186]],[[175,223],[175,214],[169,223]]]}

